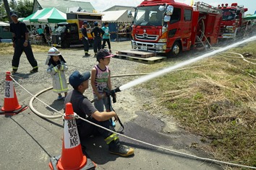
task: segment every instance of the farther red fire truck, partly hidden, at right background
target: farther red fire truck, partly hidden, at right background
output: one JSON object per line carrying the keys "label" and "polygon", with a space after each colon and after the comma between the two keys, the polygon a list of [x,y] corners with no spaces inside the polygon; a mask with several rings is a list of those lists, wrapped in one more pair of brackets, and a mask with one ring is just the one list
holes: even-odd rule
{"label": "farther red fire truck, partly hidden, at right background", "polygon": [[221,4],[218,5],[218,9],[221,9],[223,14],[218,38],[242,38],[247,27],[244,12],[247,12],[248,9],[244,8],[243,5],[238,6],[237,3],[233,3],[231,6]]}

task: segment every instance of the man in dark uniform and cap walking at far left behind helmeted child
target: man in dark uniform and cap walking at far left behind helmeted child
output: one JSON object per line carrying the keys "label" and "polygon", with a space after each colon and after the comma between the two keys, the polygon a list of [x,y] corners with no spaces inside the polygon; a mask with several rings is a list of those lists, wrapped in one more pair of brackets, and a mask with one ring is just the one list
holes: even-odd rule
{"label": "man in dark uniform and cap walking at far left behind helmeted child", "polygon": [[20,56],[24,51],[27,56],[27,61],[33,69],[30,73],[38,72],[38,62],[35,60],[33,51],[28,41],[28,30],[24,22],[18,21],[18,16],[15,12],[11,12],[12,23],[10,24],[10,32],[12,32],[12,46],[14,47],[14,55],[12,58],[12,73],[16,73],[20,64]]}

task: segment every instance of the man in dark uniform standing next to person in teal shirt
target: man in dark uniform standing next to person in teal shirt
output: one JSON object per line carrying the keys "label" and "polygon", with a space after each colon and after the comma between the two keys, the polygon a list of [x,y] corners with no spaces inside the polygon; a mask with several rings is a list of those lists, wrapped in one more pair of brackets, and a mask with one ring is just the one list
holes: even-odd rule
{"label": "man in dark uniform standing next to person in teal shirt", "polygon": [[101,50],[101,37],[103,34],[105,34],[105,32],[98,27],[98,22],[94,22],[94,28],[92,30],[92,32],[90,32],[90,35],[92,35],[92,37],[94,37],[94,41],[93,41],[93,51],[94,51],[94,55],[96,56],[98,53],[98,50]]}

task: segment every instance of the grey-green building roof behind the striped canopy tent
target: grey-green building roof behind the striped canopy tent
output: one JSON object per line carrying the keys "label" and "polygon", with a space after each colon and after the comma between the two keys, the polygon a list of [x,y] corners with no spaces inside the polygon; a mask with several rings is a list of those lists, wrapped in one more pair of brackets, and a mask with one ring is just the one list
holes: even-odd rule
{"label": "grey-green building roof behind the striped canopy tent", "polygon": [[[85,1],[72,1],[72,0],[34,0],[33,13],[38,9],[55,7],[61,12],[69,12],[69,8],[77,7],[83,9],[85,12],[95,12],[95,9],[90,2]],[[80,8],[79,8],[80,7]]]}

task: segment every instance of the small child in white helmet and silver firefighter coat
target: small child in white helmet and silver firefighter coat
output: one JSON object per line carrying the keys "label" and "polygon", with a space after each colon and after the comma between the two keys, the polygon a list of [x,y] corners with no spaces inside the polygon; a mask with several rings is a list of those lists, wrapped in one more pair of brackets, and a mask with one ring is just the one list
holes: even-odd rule
{"label": "small child in white helmet and silver firefighter coat", "polygon": [[[67,71],[68,67],[65,64],[66,61],[62,57],[57,48],[50,48],[48,50],[48,58],[46,65],[48,65],[47,73],[49,73],[53,79],[53,90],[58,94],[58,100],[65,99],[67,96],[67,80],[64,71]],[[64,98],[61,96],[64,93]]]}

